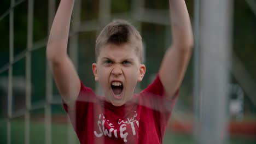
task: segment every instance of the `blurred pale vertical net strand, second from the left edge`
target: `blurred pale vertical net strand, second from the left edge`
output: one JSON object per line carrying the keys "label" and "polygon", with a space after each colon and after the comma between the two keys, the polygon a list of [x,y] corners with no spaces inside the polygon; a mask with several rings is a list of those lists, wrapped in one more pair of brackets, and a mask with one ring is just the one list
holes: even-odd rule
{"label": "blurred pale vertical net strand, second from the left edge", "polygon": [[31,109],[31,49],[33,46],[34,1],[28,1],[27,14],[27,53],[26,53],[26,110],[25,110],[25,143],[30,143],[30,109]]}

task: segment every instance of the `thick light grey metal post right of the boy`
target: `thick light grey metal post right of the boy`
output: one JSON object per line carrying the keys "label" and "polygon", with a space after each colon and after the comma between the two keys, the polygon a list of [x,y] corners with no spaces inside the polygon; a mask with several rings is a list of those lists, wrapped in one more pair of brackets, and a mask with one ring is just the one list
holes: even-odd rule
{"label": "thick light grey metal post right of the boy", "polygon": [[224,143],[228,121],[232,1],[201,3],[200,84],[203,96],[200,142]]}

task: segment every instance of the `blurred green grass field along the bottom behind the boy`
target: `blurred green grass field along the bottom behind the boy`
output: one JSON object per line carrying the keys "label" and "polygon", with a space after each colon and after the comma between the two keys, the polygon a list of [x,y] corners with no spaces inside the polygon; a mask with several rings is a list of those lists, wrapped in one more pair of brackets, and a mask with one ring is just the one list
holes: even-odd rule
{"label": "blurred green grass field along the bottom behind the boy", "polygon": [[[44,144],[44,122],[32,122],[30,125],[30,141],[31,143]],[[68,143],[67,139],[68,127],[66,124],[52,124],[52,143]],[[21,120],[11,121],[11,143],[21,144],[25,141],[25,126]],[[0,143],[7,143],[7,122],[0,120]],[[79,143],[76,139],[76,143]],[[170,131],[166,132],[164,143],[190,144],[195,143],[193,137],[188,134],[177,134]],[[231,137],[227,143],[231,144],[255,144],[256,139],[245,137]]]}

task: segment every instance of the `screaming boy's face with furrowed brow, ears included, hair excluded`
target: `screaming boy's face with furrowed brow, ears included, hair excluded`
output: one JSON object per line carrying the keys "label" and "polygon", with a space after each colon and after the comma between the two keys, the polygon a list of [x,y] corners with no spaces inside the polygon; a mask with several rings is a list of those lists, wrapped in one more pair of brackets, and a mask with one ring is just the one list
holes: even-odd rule
{"label": "screaming boy's face with furrowed brow, ears included, hair excluded", "polygon": [[135,47],[130,44],[107,44],[101,48],[92,70],[106,100],[114,106],[121,106],[132,98],[136,83],[142,81],[146,67],[139,62]]}

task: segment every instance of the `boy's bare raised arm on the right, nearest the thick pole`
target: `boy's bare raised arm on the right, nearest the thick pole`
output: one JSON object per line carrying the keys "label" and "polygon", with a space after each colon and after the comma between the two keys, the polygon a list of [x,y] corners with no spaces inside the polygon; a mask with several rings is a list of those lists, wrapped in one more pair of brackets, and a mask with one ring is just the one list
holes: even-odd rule
{"label": "boy's bare raised arm on the right, nearest the thick pole", "polygon": [[181,86],[193,47],[193,33],[184,0],[170,0],[172,45],[162,61],[159,77],[167,99]]}

